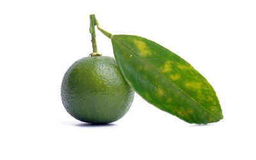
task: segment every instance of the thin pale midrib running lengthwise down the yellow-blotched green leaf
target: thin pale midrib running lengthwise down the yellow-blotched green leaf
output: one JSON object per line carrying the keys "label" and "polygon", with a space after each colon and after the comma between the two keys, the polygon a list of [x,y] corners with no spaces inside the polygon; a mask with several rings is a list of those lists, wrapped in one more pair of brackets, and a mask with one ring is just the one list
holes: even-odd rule
{"label": "thin pale midrib running lengthwise down the yellow-blotched green leaf", "polygon": [[124,45],[124,43],[122,43],[122,41],[118,41],[115,39],[115,35],[111,38],[111,40],[115,40],[118,43],[120,43],[121,45],[123,45],[124,47],[126,47],[128,50],[131,50],[131,52],[136,55],[139,59],[141,59],[141,61],[145,62],[148,64],[148,66],[150,66],[150,68],[154,69],[155,71],[157,71],[160,75],[162,75],[164,78],[166,78],[169,82],[172,82],[175,87],[177,87],[180,91],[182,91],[184,94],[186,94],[186,96],[188,96],[188,98],[192,99],[193,101],[195,101],[196,104],[198,104],[198,106],[200,106],[201,108],[203,108],[204,110],[206,110],[207,112],[209,112],[213,117],[215,117],[216,119],[221,119],[220,117],[214,115],[212,112],[210,112],[209,110],[207,110],[207,108],[205,108],[204,106],[202,106],[198,101],[196,101],[194,98],[191,98],[191,96],[189,96],[188,93],[186,93],[183,89],[181,89],[177,84],[175,84],[172,80],[170,80],[169,78],[167,78],[165,75],[163,75],[161,72],[159,72],[156,68],[154,68],[154,66],[150,65],[150,63],[148,63],[147,61],[145,61],[144,59],[142,59],[134,50],[132,50],[131,48],[129,48],[127,45]]}

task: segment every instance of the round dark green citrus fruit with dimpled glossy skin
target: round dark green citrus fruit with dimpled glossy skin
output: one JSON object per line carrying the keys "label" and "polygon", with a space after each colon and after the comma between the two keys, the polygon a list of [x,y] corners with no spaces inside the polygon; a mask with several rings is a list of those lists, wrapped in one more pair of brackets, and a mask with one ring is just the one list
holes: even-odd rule
{"label": "round dark green citrus fruit with dimpled glossy skin", "polygon": [[63,77],[61,99],[70,115],[83,122],[106,124],[129,110],[134,91],[125,82],[115,59],[84,57]]}

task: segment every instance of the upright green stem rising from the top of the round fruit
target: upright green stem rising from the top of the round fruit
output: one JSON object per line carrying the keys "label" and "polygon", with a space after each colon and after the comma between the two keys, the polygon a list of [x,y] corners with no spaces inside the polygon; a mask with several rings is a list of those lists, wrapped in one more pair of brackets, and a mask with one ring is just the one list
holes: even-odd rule
{"label": "upright green stem rising from the top of the round fruit", "polygon": [[92,49],[93,53],[97,53],[97,43],[96,43],[96,34],[95,34],[95,25],[97,25],[97,20],[95,18],[95,15],[90,15],[90,33],[92,34]]}

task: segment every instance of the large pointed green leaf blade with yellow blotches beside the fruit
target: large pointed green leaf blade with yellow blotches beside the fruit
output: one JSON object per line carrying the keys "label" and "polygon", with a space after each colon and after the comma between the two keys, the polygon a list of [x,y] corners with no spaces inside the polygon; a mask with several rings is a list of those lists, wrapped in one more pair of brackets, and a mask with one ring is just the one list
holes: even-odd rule
{"label": "large pointed green leaf blade with yellow blotches beside the fruit", "polygon": [[148,103],[189,123],[223,119],[212,86],[179,55],[140,36],[110,38],[122,75]]}

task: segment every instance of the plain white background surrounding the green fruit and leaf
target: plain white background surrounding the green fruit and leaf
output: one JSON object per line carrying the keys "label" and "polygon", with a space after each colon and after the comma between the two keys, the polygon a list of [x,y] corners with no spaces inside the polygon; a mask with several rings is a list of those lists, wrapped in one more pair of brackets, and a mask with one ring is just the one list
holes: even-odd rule
{"label": "plain white background surrounding the green fruit and leaf", "polygon": [[[254,1],[255,2],[255,1]],[[0,159],[256,159],[253,1],[0,1]],[[107,126],[65,111],[61,80],[92,52],[89,15],[156,41],[209,80],[224,119],[198,126],[137,94]],[[98,49],[113,56],[97,31]]]}

